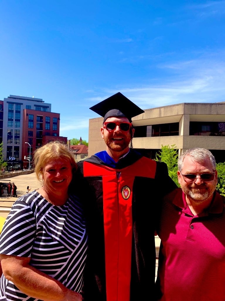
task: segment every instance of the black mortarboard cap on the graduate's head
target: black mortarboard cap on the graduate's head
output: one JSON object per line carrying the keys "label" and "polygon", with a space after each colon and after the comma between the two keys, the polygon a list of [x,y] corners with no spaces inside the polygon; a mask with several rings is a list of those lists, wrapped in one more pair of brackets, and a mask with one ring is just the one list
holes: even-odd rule
{"label": "black mortarboard cap on the graduate's head", "polygon": [[127,117],[131,122],[132,117],[145,112],[120,92],[90,107],[90,109],[104,117],[103,123],[111,116]]}

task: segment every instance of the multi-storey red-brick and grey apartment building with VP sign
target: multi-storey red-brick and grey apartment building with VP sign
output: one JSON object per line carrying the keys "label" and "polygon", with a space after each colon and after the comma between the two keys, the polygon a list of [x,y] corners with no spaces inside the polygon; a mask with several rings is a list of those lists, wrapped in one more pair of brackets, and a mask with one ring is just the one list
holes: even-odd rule
{"label": "multi-storey red-brick and grey apartment building with VP sign", "polygon": [[[1,110],[2,109],[2,110]],[[67,143],[59,136],[60,114],[40,98],[10,95],[0,101],[0,142],[7,170],[29,168],[29,155],[47,141]],[[26,158],[26,159],[25,159]]]}

